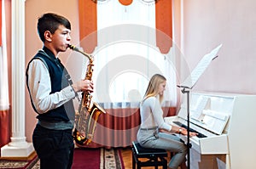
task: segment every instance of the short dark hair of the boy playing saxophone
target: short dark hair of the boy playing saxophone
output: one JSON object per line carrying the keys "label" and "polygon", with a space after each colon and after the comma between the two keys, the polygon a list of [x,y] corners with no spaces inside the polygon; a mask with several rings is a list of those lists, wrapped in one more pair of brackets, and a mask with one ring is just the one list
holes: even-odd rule
{"label": "short dark hair of the boy playing saxophone", "polygon": [[50,31],[50,33],[54,34],[59,25],[64,25],[67,29],[71,30],[71,24],[65,17],[53,13],[43,14],[38,19],[38,34],[41,41],[45,41],[44,31]]}

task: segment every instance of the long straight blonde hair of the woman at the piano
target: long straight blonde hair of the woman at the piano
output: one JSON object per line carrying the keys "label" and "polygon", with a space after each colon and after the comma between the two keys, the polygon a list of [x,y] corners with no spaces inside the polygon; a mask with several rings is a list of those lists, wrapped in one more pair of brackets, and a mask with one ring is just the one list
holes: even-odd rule
{"label": "long straight blonde hair of the woman at the piano", "polygon": [[[154,76],[151,77],[150,81],[148,82],[148,87],[146,90],[146,93],[144,95],[143,101],[145,99],[148,99],[151,96],[157,96],[158,95],[158,90],[160,87],[160,84],[162,82],[166,82],[166,77],[162,76],[160,74],[155,74]],[[160,95],[160,103],[164,99],[163,95]]]}

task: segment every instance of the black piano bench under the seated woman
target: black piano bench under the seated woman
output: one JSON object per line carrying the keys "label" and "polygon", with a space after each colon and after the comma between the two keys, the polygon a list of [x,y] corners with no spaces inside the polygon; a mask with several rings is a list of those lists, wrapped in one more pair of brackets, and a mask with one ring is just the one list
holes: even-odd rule
{"label": "black piano bench under the seated woman", "polygon": [[163,166],[163,169],[167,169],[167,161],[165,157],[167,157],[168,154],[165,149],[143,148],[136,141],[133,141],[131,150],[132,169],[136,169],[136,165],[137,169],[141,169],[142,166],[154,166],[155,169],[157,169],[158,166]]}

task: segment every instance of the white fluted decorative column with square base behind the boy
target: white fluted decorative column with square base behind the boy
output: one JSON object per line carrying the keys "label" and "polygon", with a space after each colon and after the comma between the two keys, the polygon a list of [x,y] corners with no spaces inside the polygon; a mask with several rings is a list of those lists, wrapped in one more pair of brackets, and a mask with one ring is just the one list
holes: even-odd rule
{"label": "white fluted decorative column with square base behind the boy", "polygon": [[12,137],[2,157],[27,157],[34,151],[25,136],[25,0],[12,1]]}

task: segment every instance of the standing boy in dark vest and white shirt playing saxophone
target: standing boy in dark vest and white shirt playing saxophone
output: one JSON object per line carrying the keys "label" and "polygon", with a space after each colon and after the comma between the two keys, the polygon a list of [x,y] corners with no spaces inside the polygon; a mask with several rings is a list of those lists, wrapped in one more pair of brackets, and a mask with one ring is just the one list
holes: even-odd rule
{"label": "standing boy in dark vest and white shirt playing saxophone", "polygon": [[73,99],[79,91],[93,92],[93,82],[73,83],[58,59],[70,44],[71,24],[58,14],[43,14],[38,19],[38,35],[43,49],[28,63],[26,85],[38,124],[32,143],[40,159],[40,168],[71,168],[73,164]]}

